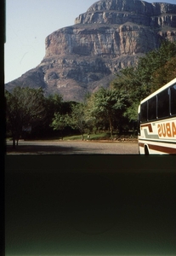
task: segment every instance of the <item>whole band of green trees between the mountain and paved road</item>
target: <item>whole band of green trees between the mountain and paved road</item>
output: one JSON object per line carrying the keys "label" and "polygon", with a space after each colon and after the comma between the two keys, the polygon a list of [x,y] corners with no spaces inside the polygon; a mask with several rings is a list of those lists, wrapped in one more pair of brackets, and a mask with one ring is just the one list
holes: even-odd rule
{"label": "whole band of green trees between the mountain and paved road", "polygon": [[7,133],[15,146],[24,132],[31,137],[62,139],[81,134],[83,139],[99,131],[109,132],[111,138],[115,133],[135,131],[139,102],[175,77],[176,43],[163,42],[135,67],[116,74],[109,89],[100,88],[82,103],[64,102],[60,95],[44,97],[42,89],[15,87],[12,93],[5,91]]}

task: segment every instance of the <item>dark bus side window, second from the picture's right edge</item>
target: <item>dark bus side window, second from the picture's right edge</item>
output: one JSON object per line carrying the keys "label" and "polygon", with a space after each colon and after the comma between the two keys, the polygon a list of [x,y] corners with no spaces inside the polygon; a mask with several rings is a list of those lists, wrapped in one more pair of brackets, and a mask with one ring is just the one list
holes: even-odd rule
{"label": "dark bus side window, second from the picture's right edge", "polygon": [[166,89],[157,95],[157,116],[163,118],[169,115],[169,90]]}

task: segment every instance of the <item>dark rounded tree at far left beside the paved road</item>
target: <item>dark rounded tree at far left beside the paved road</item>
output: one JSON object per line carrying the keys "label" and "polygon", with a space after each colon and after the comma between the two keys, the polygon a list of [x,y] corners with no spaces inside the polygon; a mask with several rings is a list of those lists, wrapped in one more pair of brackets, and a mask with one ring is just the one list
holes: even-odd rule
{"label": "dark rounded tree at far left beside the paved road", "polygon": [[18,145],[22,127],[35,127],[44,118],[43,90],[15,87],[12,93],[6,90],[5,96],[7,130],[11,132],[15,147],[15,140]]}

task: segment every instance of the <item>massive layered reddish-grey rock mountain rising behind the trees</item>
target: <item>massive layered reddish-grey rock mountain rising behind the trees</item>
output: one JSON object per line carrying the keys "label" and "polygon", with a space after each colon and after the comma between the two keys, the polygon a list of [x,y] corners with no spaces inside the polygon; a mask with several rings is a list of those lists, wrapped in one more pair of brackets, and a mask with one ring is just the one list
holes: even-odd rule
{"label": "massive layered reddish-grey rock mountain rising behind the trees", "polygon": [[159,47],[161,39],[176,40],[176,4],[101,0],[74,26],[48,35],[43,61],[6,89],[43,87],[46,95],[79,102],[87,92],[108,87],[114,73]]}

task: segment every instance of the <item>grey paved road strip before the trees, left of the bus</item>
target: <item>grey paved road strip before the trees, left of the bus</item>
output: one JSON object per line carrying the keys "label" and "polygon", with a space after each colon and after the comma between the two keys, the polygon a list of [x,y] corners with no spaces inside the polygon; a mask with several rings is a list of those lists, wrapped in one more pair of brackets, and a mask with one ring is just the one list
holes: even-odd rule
{"label": "grey paved road strip before the trees, left of the bus", "polygon": [[14,150],[7,142],[7,154],[138,154],[138,143],[93,141],[20,141]]}

